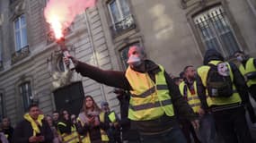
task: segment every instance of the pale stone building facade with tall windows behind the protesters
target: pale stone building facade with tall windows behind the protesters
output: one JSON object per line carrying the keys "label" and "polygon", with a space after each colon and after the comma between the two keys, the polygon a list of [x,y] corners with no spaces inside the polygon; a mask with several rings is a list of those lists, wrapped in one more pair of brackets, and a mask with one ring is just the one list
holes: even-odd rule
{"label": "pale stone building facade with tall windows behind the protesters", "polygon": [[[119,111],[113,88],[66,70],[60,47],[49,38],[46,3],[0,0],[1,116],[18,122],[31,102],[51,114],[60,106],[81,105],[81,95],[107,100]],[[255,57],[255,33],[253,0],[99,0],[66,30],[66,46],[83,62],[121,71],[128,46],[145,46],[148,58],[178,75],[185,65],[201,65],[207,48],[227,59],[236,50]]]}

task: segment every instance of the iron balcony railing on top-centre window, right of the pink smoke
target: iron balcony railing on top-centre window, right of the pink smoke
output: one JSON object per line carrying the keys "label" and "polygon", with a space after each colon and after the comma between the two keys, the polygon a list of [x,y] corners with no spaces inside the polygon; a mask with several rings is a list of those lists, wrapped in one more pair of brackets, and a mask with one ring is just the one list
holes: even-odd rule
{"label": "iron balcony railing on top-centre window, right of the pink smoke", "polygon": [[119,36],[121,33],[134,29],[136,27],[132,15],[128,15],[122,21],[119,21],[110,27],[113,37]]}

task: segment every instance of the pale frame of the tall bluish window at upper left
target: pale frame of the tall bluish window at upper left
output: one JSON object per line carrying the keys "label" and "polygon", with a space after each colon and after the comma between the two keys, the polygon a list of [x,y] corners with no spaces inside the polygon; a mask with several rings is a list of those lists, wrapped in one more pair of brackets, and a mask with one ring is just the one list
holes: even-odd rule
{"label": "pale frame of the tall bluish window at upper left", "polygon": [[[22,16],[24,17],[24,21],[25,21],[25,25],[22,25]],[[16,24],[16,21],[19,21],[19,29],[16,29],[15,27],[15,24]],[[15,52],[18,52],[20,50],[22,50],[22,48],[28,46],[28,22],[27,22],[27,19],[26,19],[26,15],[24,13],[22,13],[21,15],[19,15],[18,17],[16,17],[13,21],[13,33],[14,33],[14,45],[15,45]],[[22,41],[22,29],[25,29],[26,30],[26,43],[23,44],[23,41]],[[19,32],[19,35],[20,35],[20,44],[21,44],[21,47],[18,47],[17,46],[17,38],[16,38],[16,32]]]}

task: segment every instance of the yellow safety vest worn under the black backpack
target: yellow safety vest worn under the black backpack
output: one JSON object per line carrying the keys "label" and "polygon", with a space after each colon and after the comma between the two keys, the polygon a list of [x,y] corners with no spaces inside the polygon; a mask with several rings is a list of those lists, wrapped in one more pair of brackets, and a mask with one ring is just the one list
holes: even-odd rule
{"label": "yellow safety vest worn under the black backpack", "polygon": [[[210,63],[216,65],[217,63],[220,63],[220,62],[221,61],[211,61]],[[229,72],[230,72],[229,74],[231,76],[231,80],[233,82],[234,75],[229,64],[228,64],[228,68],[229,68]],[[198,75],[201,78],[202,84],[204,85],[204,87],[207,87],[207,73],[209,69],[210,67],[207,65],[203,65],[198,69]],[[210,107],[211,105],[231,105],[231,104],[241,103],[242,102],[241,97],[237,93],[234,83],[233,83],[233,90],[234,90],[234,93],[231,97],[209,97],[206,90],[207,105]]]}

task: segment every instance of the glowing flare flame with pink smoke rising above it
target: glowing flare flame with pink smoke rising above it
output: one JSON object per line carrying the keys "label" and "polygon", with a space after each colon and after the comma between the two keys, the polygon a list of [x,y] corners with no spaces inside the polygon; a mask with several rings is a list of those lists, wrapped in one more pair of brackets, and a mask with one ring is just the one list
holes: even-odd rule
{"label": "glowing flare flame with pink smoke rising above it", "polygon": [[63,38],[62,31],[70,26],[75,16],[95,4],[96,0],[49,0],[44,15],[54,31],[55,38]]}

